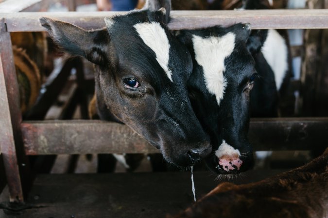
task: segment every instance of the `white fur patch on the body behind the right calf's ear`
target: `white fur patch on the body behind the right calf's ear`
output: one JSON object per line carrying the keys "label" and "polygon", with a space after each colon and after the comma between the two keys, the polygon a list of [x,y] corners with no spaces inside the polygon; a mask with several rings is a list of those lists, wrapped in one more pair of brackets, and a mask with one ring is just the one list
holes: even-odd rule
{"label": "white fur patch on the body behind the right calf's ear", "polygon": [[269,30],[261,51],[275,74],[276,88],[279,90],[288,70],[288,48],[285,39],[276,30]]}

